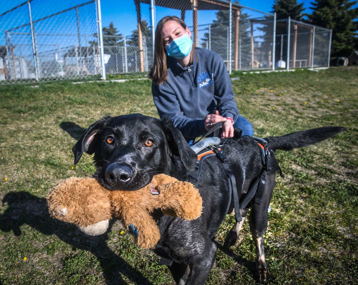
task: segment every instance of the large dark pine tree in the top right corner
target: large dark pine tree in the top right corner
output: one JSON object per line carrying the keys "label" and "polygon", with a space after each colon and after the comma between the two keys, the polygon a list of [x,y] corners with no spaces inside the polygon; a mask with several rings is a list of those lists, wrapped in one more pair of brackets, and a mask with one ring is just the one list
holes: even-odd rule
{"label": "large dark pine tree in the top right corner", "polygon": [[349,56],[358,49],[358,8],[352,8],[357,1],[315,0],[308,15],[312,24],[332,29],[331,56]]}

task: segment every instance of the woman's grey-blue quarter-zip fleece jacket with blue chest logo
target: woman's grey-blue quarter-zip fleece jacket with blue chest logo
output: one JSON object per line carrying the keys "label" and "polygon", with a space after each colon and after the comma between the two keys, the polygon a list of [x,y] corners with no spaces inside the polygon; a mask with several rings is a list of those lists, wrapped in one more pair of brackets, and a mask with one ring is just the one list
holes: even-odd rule
{"label": "woman's grey-blue quarter-zip fleece jacket with blue chest logo", "polygon": [[152,83],[154,104],[159,116],[173,120],[185,138],[205,134],[204,119],[215,110],[236,121],[239,110],[221,56],[195,48],[192,65],[183,68],[168,56],[167,69],[167,82]]}

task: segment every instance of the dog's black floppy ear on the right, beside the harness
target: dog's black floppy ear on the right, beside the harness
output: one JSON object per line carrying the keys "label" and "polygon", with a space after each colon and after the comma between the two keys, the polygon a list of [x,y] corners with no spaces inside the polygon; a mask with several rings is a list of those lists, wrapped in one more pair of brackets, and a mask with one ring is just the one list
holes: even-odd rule
{"label": "dog's black floppy ear on the right, beside the harness", "polygon": [[173,125],[169,119],[160,120],[172,155],[179,156],[184,166],[189,171],[194,171],[198,156],[185,141],[182,133]]}

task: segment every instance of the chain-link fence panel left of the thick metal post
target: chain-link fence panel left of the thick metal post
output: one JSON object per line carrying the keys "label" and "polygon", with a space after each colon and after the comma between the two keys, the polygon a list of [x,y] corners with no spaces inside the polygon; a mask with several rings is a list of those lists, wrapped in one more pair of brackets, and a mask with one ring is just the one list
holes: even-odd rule
{"label": "chain-link fence panel left of the thick metal post", "polygon": [[1,84],[101,77],[97,4],[29,0],[1,14]]}

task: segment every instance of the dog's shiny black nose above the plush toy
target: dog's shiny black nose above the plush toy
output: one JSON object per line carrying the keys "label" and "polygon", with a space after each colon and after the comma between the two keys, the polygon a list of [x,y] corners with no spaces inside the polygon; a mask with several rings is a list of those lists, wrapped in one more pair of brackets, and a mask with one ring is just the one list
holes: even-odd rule
{"label": "dog's shiny black nose above the plush toy", "polygon": [[128,164],[113,163],[107,167],[105,177],[108,183],[121,187],[132,179],[133,169]]}

